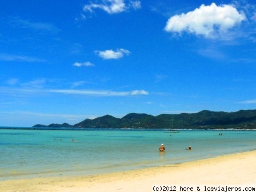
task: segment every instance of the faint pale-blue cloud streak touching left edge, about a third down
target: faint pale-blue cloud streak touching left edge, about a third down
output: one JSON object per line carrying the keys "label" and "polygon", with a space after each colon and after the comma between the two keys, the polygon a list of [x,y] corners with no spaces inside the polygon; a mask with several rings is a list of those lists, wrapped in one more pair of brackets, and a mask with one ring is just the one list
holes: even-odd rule
{"label": "faint pale-blue cloud streak touching left edge, about a third down", "polygon": [[0,61],[17,61],[17,62],[45,62],[44,59],[29,57],[27,55],[13,55],[0,53]]}

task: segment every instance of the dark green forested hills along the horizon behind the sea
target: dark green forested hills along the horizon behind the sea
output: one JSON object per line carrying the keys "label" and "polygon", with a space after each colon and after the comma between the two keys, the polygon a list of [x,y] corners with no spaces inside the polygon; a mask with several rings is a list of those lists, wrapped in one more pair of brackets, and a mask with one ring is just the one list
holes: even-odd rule
{"label": "dark green forested hills along the horizon behind the sea", "polygon": [[134,128],[134,129],[256,129],[256,110],[237,112],[215,112],[203,110],[198,113],[148,114],[130,113],[122,118],[105,115],[95,119],[85,119],[75,125],[50,124],[33,127],[81,127],[81,128]]}

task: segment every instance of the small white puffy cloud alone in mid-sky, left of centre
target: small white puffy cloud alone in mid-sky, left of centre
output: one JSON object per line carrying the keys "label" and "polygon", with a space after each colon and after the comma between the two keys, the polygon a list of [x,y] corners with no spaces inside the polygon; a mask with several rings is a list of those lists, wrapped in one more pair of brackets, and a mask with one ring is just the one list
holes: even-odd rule
{"label": "small white puffy cloud alone in mid-sky, left of centre", "polygon": [[106,50],[106,51],[95,51],[99,57],[103,59],[119,59],[122,58],[124,54],[129,55],[130,51],[126,49],[117,49],[117,51]]}

